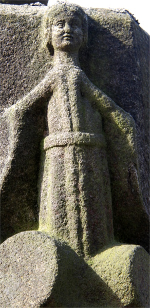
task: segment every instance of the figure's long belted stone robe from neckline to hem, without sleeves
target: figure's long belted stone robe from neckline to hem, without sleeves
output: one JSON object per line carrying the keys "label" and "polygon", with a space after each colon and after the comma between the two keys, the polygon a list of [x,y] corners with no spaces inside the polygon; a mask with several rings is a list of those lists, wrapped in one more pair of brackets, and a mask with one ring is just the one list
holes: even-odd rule
{"label": "figure's long belted stone robe from neckline to hem, without sleeves", "polygon": [[101,114],[82,93],[76,67],[54,72],[40,180],[40,230],[79,254],[113,240],[110,179]]}

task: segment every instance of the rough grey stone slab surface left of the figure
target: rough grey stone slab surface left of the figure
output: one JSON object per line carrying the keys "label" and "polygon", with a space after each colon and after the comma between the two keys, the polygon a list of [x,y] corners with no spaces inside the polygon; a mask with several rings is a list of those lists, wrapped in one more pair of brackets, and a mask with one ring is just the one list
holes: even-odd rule
{"label": "rough grey stone slab surface left of the figure", "polygon": [[[41,17],[46,9],[46,7],[41,7],[38,10],[37,7],[28,5],[1,5],[1,13],[4,12],[1,14],[2,43],[4,44],[1,59],[3,67],[1,70],[2,109],[11,106],[23,97],[49,70],[49,55],[47,53],[46,56],[46,52],[41,51]],[[6,83],[4,76],[6,76]],[[23,143],[20,144],[17,153],[13,151],[10,143],[9,124],[6,119],[0,124],[2,125],[2,174],[5,174],[7,161],[13,157],[12,171],[6,176],[7,180],[3,185],[5,201],[2,197],[1,204],[4,211],[1,212],[1,240],[21,230],[37,228],[36,187],[39,174],[40,142],[44,130],[43,112],[41,108],[37,109],[34,115],[31,113],[27,115],[26,132],[22,133]],[[36,123],[39,123],[38,127]]]}

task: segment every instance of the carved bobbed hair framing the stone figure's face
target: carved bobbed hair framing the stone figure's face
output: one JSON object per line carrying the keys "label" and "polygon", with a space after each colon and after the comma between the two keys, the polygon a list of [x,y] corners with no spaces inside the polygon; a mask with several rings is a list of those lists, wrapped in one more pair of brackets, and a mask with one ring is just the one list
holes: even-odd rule
{"label": "carved bobbed hair framing the stone figure's face", "polygon": [[51,29],[52,29],[53,20],[59,15],[65,17],[66,14],[70,16],[72,15],[78,16],[79,18],[81,18],[82,31],[83,31],[83,42],[80,47],[80,50],[86,47],[87,45],[87,39],[88,39],[87,15],[83,11],[83,9],[78,5],[60,3],[60,4],[56,4],[48,8],[46,13],[44,14],[44,19],[43,19],[44,36],[46,39],[46,46],[49,49],[50,54],[53,54],[54,52],[53,46],[51,43]]}

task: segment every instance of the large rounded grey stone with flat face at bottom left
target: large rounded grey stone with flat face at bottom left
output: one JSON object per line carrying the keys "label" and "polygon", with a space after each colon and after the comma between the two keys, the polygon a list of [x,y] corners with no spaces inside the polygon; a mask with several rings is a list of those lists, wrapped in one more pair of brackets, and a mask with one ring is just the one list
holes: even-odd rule
{"label": "large rounded grey stone with flat face at bottom left", "polygon": [[1,307],[80,307],[87,265],[63,243],[28,231],[7,239],[1,254]]}

